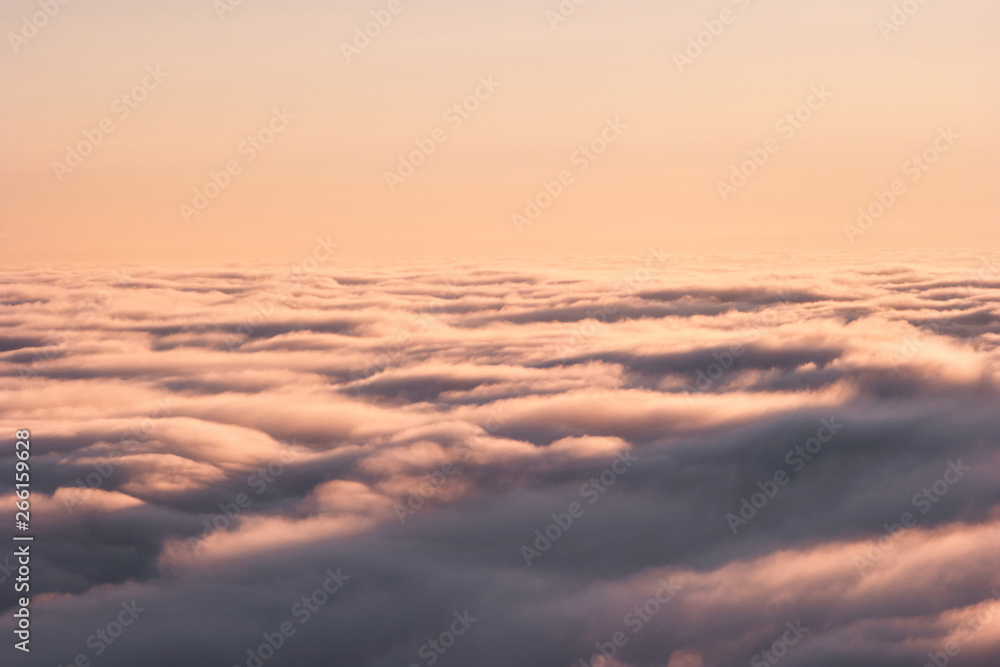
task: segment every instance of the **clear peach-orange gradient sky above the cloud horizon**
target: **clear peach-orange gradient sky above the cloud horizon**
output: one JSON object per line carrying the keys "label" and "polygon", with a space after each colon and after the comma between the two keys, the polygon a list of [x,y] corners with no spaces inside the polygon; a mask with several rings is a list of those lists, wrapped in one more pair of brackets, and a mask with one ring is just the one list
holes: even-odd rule
{"label": "clear peach-orange gradient sky above the cloud horizon", "polygon": [[[244,0],[220,19],[211,0],[70,2],[15,53],[38,5],[7,0],[0,261],[284,259],[321,234],[385,257],[1000,240],[993,0],[928,2],[888,39],[889,0],[590,0],[555,30],[557,0],[402,0],[347,62],[341,43],[387,5]],[[725,9],[734,22],[678,71],[673,53]],[[151,65],[168,76],[119,119]],[[502,85],[451,129],[483,76]],[[832,99],[780,138],[815,85]],[[274,108],[296,118],[185,224],[179,206],[244,160]],[[577,172],[609,117],[628,129]],[[53,162],[105,118],[115,131],[60,182]],[[384,173],[439,127],[448,141],[390,192]],[[954,146],[849,242],[857,208],[948,127]],[[780,151],[723,202],[717,182],[769,137]],[[511,215],[563,169],[574,184],[519,234]]]}

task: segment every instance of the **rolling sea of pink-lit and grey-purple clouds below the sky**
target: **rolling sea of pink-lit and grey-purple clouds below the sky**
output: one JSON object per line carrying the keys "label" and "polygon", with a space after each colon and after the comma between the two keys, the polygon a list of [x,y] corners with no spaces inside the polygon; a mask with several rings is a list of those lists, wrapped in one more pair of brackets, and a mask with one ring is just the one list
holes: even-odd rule
{"label": "rolling sea of pink-lit and grey-purple clouds below the sky", "polygon": [[997,255],[319,256],[4,271],[25,664],[997,664]]}

